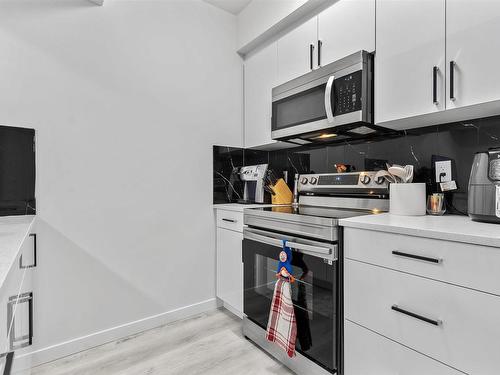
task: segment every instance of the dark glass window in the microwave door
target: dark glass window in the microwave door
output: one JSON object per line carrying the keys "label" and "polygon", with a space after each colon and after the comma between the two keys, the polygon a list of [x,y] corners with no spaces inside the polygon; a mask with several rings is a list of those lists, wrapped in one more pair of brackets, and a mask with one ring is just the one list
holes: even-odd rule
{"label": "dark glass window in the microwave door", "polygon": [[273,103],[272,129],[279,130],[293,125],[326,118],[326,84]]}

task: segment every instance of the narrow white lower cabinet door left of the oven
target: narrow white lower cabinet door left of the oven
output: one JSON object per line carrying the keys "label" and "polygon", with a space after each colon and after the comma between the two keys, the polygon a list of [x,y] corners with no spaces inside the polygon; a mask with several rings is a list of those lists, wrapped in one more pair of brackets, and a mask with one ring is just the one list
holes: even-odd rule
{"label": "narrow white lower cabinet door left of the oven", "polygon": [[217,228],[217,297],[243,313],[243,233]]}

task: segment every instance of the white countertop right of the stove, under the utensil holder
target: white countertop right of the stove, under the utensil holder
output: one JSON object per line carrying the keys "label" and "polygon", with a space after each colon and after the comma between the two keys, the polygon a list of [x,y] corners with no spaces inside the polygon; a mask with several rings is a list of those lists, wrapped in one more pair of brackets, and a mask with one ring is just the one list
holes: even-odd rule
{"label": "white countertop right of the stove, under the utensil holder", "polygon": [[500,247],[500,224],[478,223],[468,216],[398,216],[383,213],[342,219],[340,225]]}

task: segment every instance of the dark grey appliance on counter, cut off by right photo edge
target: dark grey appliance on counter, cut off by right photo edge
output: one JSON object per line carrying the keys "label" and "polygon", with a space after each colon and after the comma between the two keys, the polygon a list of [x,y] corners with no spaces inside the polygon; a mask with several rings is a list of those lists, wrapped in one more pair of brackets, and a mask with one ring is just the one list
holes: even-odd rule
{"label": "dark grey appliance on counter, cut off by right photo edge", "polygon": [[500,223],[500,148],[474,156],[468,211],[472,220]]}

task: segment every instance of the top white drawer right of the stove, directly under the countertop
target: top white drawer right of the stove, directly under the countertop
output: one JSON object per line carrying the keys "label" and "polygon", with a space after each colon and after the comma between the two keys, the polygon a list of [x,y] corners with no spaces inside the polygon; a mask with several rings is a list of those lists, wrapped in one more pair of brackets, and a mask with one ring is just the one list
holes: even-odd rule
{"label": "top white drawer right of the stove, directly under the countertop", "polygon": [[345,228],[344,243],[348,259],[500,295],[498,248],[355,228]]}

